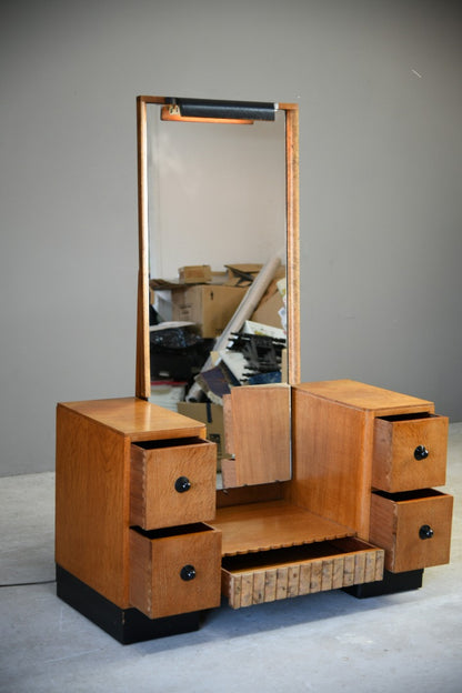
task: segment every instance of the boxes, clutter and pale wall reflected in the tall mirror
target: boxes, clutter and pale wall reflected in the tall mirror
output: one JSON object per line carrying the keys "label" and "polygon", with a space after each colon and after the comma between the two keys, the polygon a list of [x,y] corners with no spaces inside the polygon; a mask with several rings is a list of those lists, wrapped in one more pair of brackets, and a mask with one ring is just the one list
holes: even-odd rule
{"label": "boxes, clutter and pale wall reflected in the tall mirror", "polygon": [[164,108],[145,121],[149,399],[191,415],[288,380],[285,114],[182,122]]}

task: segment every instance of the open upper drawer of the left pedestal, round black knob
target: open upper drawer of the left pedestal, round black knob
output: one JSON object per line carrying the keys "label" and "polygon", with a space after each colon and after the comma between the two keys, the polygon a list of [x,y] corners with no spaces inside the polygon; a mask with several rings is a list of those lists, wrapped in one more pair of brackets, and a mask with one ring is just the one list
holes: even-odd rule
{"label": "open upper drawer of the left pedestal, round black knob", "polygon": [[154,530],[212,520],[217,445],[202,439],[132,444],[130,524]]}

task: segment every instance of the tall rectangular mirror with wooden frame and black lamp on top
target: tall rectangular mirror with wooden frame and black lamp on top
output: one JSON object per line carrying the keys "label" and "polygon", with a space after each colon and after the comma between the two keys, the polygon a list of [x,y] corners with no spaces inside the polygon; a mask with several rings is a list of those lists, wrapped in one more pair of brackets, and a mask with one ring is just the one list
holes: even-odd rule
{"label": "tall rectangular mirror with wooden frame and black lamp on top", "polygon": [[214,402],[229,383],[299,382],[298,107],[137,108],[137,396],[159,403],[174,382]]}

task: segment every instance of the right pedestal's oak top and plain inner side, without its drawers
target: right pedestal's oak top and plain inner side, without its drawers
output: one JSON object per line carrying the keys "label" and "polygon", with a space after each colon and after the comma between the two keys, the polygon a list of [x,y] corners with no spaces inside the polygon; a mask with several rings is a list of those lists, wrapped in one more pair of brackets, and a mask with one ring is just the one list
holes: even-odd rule
{"label": "right pedestal's oak top and plain inner side, without its drawers", "polygon": [[368,540],[376,418],[433,411],[426,400],[352,380],[294,386],[288,499]]}

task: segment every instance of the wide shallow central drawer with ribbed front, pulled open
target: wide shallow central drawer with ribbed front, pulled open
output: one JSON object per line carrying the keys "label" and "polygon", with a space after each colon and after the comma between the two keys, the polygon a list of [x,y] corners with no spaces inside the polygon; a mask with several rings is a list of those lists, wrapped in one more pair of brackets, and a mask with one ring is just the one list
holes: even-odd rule
{"label": "wide shallow central drawer with ribbed front, pulled open", "polygon": [[383,576],[384,552],[355,538],[225,556],[221,591],[230,606],[337,590]]}

